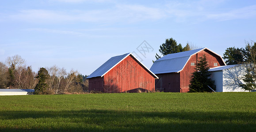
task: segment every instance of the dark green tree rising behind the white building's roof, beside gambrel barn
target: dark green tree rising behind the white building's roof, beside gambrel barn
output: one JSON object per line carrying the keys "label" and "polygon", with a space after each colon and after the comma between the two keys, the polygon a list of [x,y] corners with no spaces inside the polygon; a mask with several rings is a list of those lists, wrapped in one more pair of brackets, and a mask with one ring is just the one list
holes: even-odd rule
{"label": "dark green tree rising behind the white building's roof, beside gambrel barn", "polygon": [[244,56],[242,55],[243,52],[243,48],[230,47],[225,50],[222,58],[227,65],[241,64],[245,62]]}

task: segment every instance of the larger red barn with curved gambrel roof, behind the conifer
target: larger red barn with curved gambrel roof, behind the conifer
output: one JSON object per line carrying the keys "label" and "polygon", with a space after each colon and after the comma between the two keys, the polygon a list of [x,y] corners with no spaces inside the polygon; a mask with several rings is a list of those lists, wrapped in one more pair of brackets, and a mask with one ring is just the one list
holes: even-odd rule
{"label": "larger red barn with curved gambrel roof, behind the conifer", "polygon": [[226,65],[220,55],[208,48],[165,55],[155,61],[150,68],[159,77],[155,88],[164,92],[188,92],[195,63],[203,55],[206,55],[210,68]]}

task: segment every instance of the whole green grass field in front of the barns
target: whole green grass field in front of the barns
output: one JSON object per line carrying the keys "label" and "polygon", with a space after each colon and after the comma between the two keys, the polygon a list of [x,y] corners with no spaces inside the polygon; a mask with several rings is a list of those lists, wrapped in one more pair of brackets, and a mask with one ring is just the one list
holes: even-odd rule
{"label": "whole green grass field in front of the barns", "polygon": [[0,131],[255,132],[256,92],[0,96]]}

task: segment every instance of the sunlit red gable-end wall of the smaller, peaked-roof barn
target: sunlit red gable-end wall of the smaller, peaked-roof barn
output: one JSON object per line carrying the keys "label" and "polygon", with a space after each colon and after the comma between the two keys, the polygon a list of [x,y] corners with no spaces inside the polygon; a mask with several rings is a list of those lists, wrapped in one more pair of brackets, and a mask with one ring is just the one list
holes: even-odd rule
{"label": "sunlit red gable-end wall of the smaller, peaked-roof barn", "polygon": [[154,91],[155,78],[131,55],[104,75],[104,92]]}

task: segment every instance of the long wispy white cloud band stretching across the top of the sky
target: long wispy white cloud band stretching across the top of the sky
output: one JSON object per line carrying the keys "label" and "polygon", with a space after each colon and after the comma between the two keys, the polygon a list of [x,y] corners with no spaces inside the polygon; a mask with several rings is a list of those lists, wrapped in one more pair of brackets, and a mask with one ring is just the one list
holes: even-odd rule
{"label": "long wispy white cloud band stretching across the top of the sky", "polygon": [[[71,2],[73,0],[60,0]],[[75,0],[79,2],[83,0]],[[96,0],[97,1],[97,0]],[[102,1],[102,0],[100,0]],[[89,22],[101,24],[134,23],[141,21],[159,21],[198,23],[207,20],[225,21],[245,19],[256,16],[256,5],[238,9],[220,9],[225,0],[199,0],[182,3],[169,2],[157,6],[139,4],[113,4],[98,10],[21,10],[9,15],[12,20],[32,23],[69,23]],[[223,5],[222,5],[223,6]]]}

